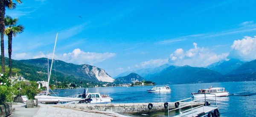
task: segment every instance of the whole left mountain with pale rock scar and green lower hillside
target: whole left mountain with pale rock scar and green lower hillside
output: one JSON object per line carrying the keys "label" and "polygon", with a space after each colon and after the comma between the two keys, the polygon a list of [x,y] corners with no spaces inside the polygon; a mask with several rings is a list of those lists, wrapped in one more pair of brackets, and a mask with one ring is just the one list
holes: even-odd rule
{"label": "whole left mountain with pale rock scar and green lower hillside", "polygon": [[[49,66],[51,60],[49,59]],[[20,73],[28,80],[47,81],[47,58],[35,58],[28,60],[12,60],[12,67],[20,69]],[[58,79],[55,78],[55,75]],[[113,82],[105,70],[89,64],[72,64],[55,60],[52,65],[52,80],[61,82]]]}

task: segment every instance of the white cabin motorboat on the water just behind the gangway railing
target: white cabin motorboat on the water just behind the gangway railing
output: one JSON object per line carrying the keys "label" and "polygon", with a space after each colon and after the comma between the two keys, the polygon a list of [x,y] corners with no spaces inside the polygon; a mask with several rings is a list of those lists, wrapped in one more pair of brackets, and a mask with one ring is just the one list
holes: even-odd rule
{"label": "white cabin motorboat on the water just behind the gangway railing", "polygon": [[[225,88],[215,87],[209,89],[199,89],[197,93],[191,93],[193,97],[223,97],[228,96],[228,92]],[[212,95],[215,94],[215,95]]]}

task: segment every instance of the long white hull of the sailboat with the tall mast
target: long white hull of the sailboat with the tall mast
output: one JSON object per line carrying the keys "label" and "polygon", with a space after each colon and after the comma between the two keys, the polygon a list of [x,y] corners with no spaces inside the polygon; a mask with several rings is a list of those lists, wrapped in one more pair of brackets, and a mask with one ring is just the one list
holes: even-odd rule
{"label": "long white hull of the sailboat with the tall mast", "polygon": [[[28,100],[26,96],[21,96],[21,97],[24,102]],[[38,95],[38,96],[35,96],[35,99],[38,99],[39,103],[58,103],[58,102],[71,102],[71,101],[84,100],[82,98],[76,98],[76,97],[55,97],[55,96],[48,96],[48,95]]]}

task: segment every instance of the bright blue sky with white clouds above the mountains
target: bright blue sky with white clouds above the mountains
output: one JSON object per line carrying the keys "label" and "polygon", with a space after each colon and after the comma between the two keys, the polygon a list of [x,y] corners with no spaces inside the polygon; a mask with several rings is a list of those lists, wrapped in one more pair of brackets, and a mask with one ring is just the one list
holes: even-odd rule
{"label": "bright blue sky with white clouds above the mountains", "polygon": [[[255,0],[23,0],[13,58],[91,64],[116,76],[162,64],[256,59]],[[5,37],[5,40],[7,38]],[[7,53],[7,43],[5,45]],[[7,54],[6,54],[7,56]]]}

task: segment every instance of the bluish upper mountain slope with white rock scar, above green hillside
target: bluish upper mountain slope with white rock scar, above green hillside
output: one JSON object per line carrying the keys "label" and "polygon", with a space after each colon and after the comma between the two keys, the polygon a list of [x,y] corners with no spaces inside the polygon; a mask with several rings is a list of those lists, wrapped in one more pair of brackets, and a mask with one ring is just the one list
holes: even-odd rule
{"label": "bluish upper mountain slope with white rock scar, above green hillside", "polygon": [[[42,67],[47,71],[47,58],[35,58],[35,59],[28,59],[28,60],[20,60],[20,62],[31,64],[37,67]],[[49,64],[51,60],[49,60]],[[49,65],[50,66],[50,65]],[[66,63],[64,61],[55,60],[53,62],[53,70],[59,72],[65,76],[84,79],[87,81],[102,81],[102,82],[113,82],[114,79],[111,78],[105,70],[100,69],[95,66],[91,66],[89,64],[72,64]]]}

